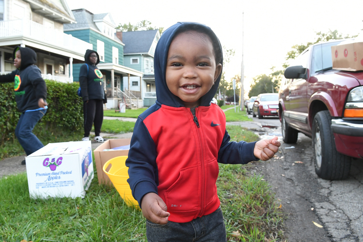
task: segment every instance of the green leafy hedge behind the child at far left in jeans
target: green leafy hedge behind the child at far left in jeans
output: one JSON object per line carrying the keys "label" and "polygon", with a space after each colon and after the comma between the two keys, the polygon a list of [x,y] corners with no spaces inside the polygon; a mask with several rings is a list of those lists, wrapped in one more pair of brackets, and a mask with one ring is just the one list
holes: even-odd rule
{"label": "green leafy hedge behind the child at far left in jeans", "polygon": [[[78,83],[45,80],[48,110],[40,121],[46,130],[83,128],[83,102],[77,95]],[[16,108],[14,84],[0,84],[0,144],[15,139],[15,127],[20,112]],[[38,124],[39,125],[39,124]]]}

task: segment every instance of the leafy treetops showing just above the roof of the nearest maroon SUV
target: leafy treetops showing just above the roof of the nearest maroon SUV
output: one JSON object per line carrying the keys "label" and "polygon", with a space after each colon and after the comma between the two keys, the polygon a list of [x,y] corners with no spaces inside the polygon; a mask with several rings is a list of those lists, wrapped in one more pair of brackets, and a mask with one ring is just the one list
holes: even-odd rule
{"label": "leafy treetops showing just above the roof of the nearest maroon SUV", "polygon": [[[326,42],[329,40],[340,40],[340,39],[347,39],[347,38],[354,38],[357,37],[358,35],[352,35],[349,36],[349,34],[347,34],[346,36],[343,37],[343,34],[339,33],[338,30],[329,30],[327,33],[322,33],[320,32],[316,32],[317,36],[315,37],[315,40],[313,42],[308,42],[306,44],[301,44],[301,45],[293,45],[290,51],[287,52],[287,57],[286,60],[289,59],[295,59],[296,57],[298,57],[298,55],[300,55],[302,53],[302,51],[304,51],[307,47],[309,47],[310,45],[314,45],[320,42]],[[284,68],[286,68],[286,63],[284,64]]]}

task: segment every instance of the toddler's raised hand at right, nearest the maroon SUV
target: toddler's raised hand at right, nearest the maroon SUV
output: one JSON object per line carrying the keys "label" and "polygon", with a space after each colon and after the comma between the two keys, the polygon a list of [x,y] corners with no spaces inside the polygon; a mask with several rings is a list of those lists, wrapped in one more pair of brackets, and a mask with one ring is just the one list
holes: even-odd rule
{"label": "toddler's raised hand at right, nearest the maroon SUV", "polygon": [[280,146],[281,143],[277,141],[277,136],[272,139],[263,139],[256,142],[253,154],[258,159],[267,161],[275,155]]}

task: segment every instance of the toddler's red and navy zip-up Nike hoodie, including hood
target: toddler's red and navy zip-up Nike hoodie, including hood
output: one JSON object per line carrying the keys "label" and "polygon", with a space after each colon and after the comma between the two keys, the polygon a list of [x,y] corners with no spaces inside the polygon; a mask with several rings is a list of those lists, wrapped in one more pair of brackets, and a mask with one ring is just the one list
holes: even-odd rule
{"label": "toddler's red and navy zip-up Nike hoodie, including hood", "polygon": [[[154,55],[157,101],[137,119],[126,160],[132,195],[141,207],[147,193],[158,194],[170,212],[169,221],[185,223],[208,215],[220,205],[216,180],[218,163],[247,164],[258,160],[255,142],[231,142],[222,109],[211,104],[220,77],[191,110],[166,86],[166,61],[173,37],[180,28],[206,30],[219,44],[214,32],[197,23],[177,23],[165,30]],[[221,61],[222,63],[222,61]]]}

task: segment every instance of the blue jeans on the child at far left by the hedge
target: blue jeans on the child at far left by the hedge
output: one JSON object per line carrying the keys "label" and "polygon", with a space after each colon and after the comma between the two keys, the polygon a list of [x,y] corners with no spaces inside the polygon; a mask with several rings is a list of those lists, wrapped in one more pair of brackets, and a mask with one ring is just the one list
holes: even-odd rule
{"label": "blue jeans on the child at far left by the hedge", "polygon": [[44,147],[42,142],[33,134],[35,124],[45,115],[46,109],[22,113],[15,128],[15,136],[25,153],[31,153]]}

